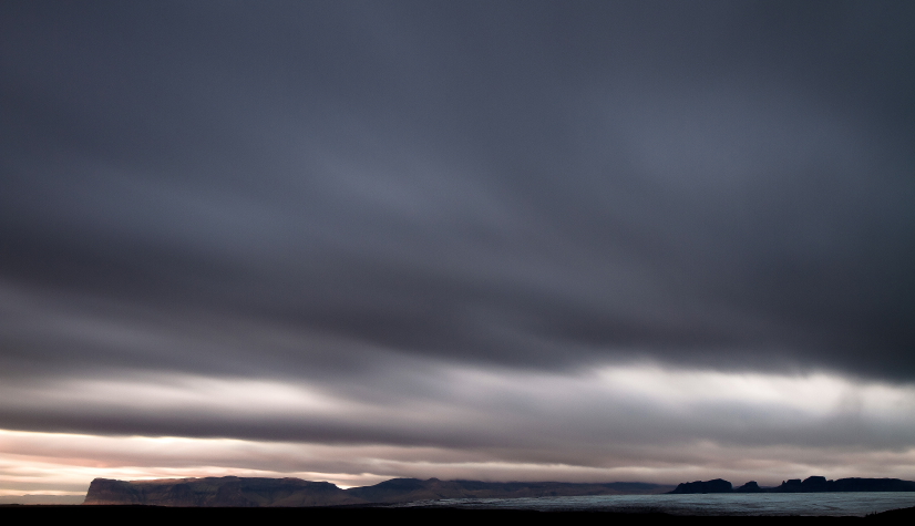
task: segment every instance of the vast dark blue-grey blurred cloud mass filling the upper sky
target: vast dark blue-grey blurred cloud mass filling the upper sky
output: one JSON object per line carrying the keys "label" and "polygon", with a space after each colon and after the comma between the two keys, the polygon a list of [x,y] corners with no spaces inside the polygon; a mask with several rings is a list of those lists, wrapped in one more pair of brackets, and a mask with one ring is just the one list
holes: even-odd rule
{"label": "vast dark blue-grey blurred cloud mass filling the upper sky", "polygon": [[908,4],[0,20],[7,371],[915,375]]}

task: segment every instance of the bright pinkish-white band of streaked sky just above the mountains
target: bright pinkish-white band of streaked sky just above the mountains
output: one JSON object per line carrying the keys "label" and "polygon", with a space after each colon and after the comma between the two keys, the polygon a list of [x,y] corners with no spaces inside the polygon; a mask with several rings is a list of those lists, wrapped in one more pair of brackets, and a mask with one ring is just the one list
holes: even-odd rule
{"label": "bright pinkish-white band of streaked sky just above the mountains", "polygon": [[[204,436],[4,431],[2,484],[14,493],[79,492],[95,476],[300,476],[349,486],[393,476],[775,483],[814,472],[915,475],[911,386],[644,364],[578,375],[441,365],[431,379],[439,391],[403,393],[397,403],[390,391],[373,400],[383,385],[370,381],[358,393],[186,374],[63,380],[34,392],[3,386],[7,412],[73,413],[74,425],[80,415],[114,414],[143,434],[155,433],[160,415],[181,413]],[[301,439],[245,437],[251,426]]]}

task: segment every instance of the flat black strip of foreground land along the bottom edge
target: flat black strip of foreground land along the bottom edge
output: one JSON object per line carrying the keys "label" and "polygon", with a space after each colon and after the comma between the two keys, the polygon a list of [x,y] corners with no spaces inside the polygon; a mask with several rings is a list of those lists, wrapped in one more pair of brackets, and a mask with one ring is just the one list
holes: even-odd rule
{"label": "flat black strip of foreground land along the bottom edge", "polygon": [[[613,524],[802,524],[802,525],[876,525],[915,524],[915,507],[893,509],[867,517],[785,517],[785,516],[682,516],[664,513],[619,514],[608,512],[534,512],[515,509],[464,509],[444,507],[310,507],[310,508],[201,508],[160,506],[48,506],[48,505],[0,505],[0,522],[25,524],[38,520],[96,520],[121,522],[168,522],[169,524],[204,522],[232,522],[265,524],[304,523],[315,524],[563,524],[603,526]],[[21,523],[20,523],[21,522]]]}

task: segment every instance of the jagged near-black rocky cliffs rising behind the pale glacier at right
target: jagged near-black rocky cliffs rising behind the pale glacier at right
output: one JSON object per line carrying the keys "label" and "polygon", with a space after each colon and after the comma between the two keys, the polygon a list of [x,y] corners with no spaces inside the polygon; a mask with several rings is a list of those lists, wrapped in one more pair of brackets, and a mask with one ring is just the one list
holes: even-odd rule
{"label": "jagged near-black rocky cliffs rising behind the pale glacier at right", "polygon": [[832,492],[915,492],[915,482],[898,478],[840,478],[827,481],[823,476],[811,476],[803,481],[792,478],[777,487],[760,487],[755,482],[732,488],[731,483],[716,478],[679,484],[672,492],[678,493],[832,493]]}

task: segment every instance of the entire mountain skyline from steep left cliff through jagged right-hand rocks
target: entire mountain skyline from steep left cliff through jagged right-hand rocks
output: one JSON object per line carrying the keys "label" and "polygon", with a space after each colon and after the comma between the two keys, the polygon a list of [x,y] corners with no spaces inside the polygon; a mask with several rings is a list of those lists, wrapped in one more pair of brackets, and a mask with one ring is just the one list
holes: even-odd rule
{"label": "entire mountain skyline from steep left cliff through jagged right-hand rocks", "polygon": [[792,478],[775,487],[754,481],[733,487],[714,478],[672,486],[638,483],[483,482],[439,478],[391,478],[372,486],[340,488],[329,482],[301,478],[202,477],[117,481],[95,478],[86,505],[152,505],[174,507],[308,507],[398,504],[443,498],[521,498],[549,496],[705,493],[833,493],[915,492],[915,482],[899,478],[850,477],[827,481],[811,476]]}

